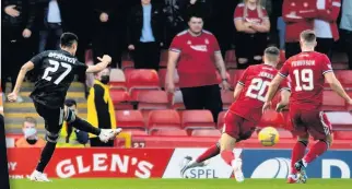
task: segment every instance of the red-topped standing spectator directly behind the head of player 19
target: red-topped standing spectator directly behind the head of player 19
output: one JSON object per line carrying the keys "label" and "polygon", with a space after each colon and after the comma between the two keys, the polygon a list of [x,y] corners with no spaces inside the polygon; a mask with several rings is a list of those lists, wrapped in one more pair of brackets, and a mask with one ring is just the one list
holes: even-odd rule
{"label": "red-topped standing spectator directly behind the head of player 19", "polygon": [[285,57],[301,52],[300,34],[314,28],[317,0],[283,0],[282,17],[286,24]]}

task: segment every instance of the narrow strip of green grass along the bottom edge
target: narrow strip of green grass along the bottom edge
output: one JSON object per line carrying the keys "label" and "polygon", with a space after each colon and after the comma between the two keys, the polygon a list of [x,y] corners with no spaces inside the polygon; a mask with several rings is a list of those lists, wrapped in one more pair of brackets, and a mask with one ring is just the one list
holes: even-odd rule
{"label": "narrow strip of green grass along the bottom edge", "polygon": [[11,189],[350,189],[352,179],[309,179],[304,186],[284,179],[54,179],[52,182],[10,180]]}

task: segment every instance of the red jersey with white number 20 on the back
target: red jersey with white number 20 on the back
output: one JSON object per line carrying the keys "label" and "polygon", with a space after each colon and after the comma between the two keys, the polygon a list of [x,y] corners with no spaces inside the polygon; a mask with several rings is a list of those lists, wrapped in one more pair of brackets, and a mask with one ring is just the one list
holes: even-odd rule
{"label": "red jersey with white number 20 on the back", "polygon": [[[238,81],[244,88],[230,110],[245,119],[258,122],[269,84],[278,72],[275,68],[268,64],[248,67]],[[290,90],[290,84],[286,81],[282,82],[280,90]]]}

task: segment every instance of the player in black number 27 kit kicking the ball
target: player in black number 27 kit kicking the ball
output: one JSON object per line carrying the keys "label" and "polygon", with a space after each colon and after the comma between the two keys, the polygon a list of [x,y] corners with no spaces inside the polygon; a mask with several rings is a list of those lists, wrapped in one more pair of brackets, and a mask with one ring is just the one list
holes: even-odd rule
{"label": "player in black number 27 kit kicking the ball", "polygon": [[33,69],[37,71],[40,79],[35,83],[31,98],[38,115],[45,120],[47,144],[43,149],[36,169],[31,175],[30,179],[34,181],[50,181],[43,172],[54,154],[63,120],[72,122],[72,126],[79,130],[98,135],[103,142],[114,139],[121,131],[121,129],[93,127],[64,107],[64,98],[74,74],[99,72],[110,63],[112,58],[104,55],[103,58],[97,58],[99,63],[85,66],[74,57],[78,47],[78,37],[74,34],[62,34],[60,43],[60,50],[44,51],[33,57],[21,68],[15,87],[8,96],[10,102],[15,102],[25,74]]}

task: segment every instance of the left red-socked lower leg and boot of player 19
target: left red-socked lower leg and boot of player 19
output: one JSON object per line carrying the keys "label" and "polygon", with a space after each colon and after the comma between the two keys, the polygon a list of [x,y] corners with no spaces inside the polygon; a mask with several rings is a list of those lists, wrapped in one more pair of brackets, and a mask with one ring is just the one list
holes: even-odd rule
{"label": "left red-socked lower leg and boot of player 19", "polygon": [[295,168],[295,163],[303,158],[305,150],[308,144],[309,135],[298,137],[296,144],[293,146],[291,154],[291,173],[288,177],[288,184],[297,184],[300,179],[297,177],[297,170]]}

